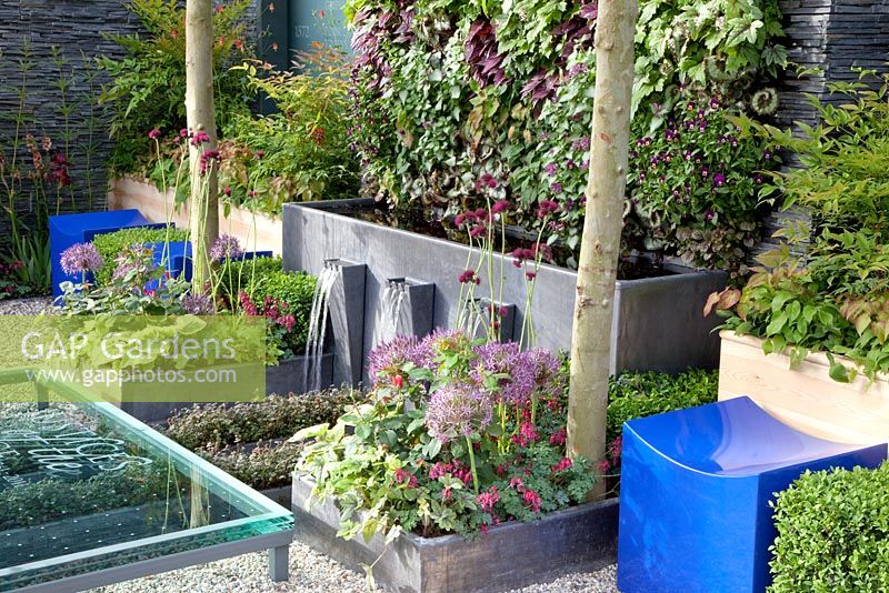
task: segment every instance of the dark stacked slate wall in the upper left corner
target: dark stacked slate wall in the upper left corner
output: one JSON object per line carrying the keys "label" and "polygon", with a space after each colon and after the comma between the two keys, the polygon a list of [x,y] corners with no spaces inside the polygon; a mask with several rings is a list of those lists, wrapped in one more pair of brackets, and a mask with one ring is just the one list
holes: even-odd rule
{"label": "dark stacked slate wall in the upper left corner", "polygon": [[[248,31],[256,39],[256,9],[248,11]],[[104,34],[127,34],[139,30],[138,19],[124,0],[0,0],[0,151],[11,159],[11,139],[19,91],[27,92],[26,131],[52,139],[56,150],[66,151],[71,163],[72,183],[61,192],[60,210],[86,211],[104,207],[107,191],[106,157],[111,148],[108,119],[96,98],[104,80],[98,76],[93,58],[119,56],[120,49]],[[58,57],[53,48],[58,49]],[[59,72],[58,60],[63,61]],[[22,79],[22,63],[29,71]],[[62,113],[59,80],[68,82]],[[68,141],[66,142],[66,133]],[[20,151],[19,158],[29,158]],[[51,210],[54,213],[56,190]],[[6,203],[6,200],[3,200]],[[32,218],[33,201],[27,197],[17,209],[26,220]],[[9,214],[0,211],[0,245],[9,238]]]}

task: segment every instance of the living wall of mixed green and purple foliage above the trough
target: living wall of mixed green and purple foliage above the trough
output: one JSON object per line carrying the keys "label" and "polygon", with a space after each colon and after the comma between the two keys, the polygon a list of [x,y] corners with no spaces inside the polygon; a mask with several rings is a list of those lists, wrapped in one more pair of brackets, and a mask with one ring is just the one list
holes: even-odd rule
{"label": "living wall of mixed green and purple foliage above the trough", "polygon": [[[703,101],[716,97],[745,111],[773,113],[777,96],[762,86],[786,62],[776,43],[781,26],[775,0],[646,0],[641,9],[633,97],[639,134],[655,134],[672,114],[680,118],[682,87]],[[531,229],[540,227],[538,204],[556,200],[558,220],[547,228],[547,240],[577,250],[596,83],[596,3],[422,0],[403,10],[396,2],[352,0],[347,14],[356,28],[352,139],[363,190],[436,217],[485,207],[499,193],[517,204],[510,223]],[[719,118],[721,133],[731,130]],[[716,131],[707,135],[713,141],[702,152],[717,148]],[[720,152],[739,161],[738,178],[750,172],[753,157]],[[733,160],[723,164],[736,167]],[[492,183],[480,184],[483,178]],[[667,190],[696,179],[682,181]],[[655,195],[646,203],[641,190],[635,199],[645,212],[663,202]],[[738,219],[707,221],[716,232],[693,228],[678,239],[670,228],[647,238],[697,264],[737,262],[737,250],[755,234],[747,229],[756,220],[752,175],[730,190],[699,193],[695,205],[703,207],[693,213],[698,218],[733,210]],[[569,257],[566,263],[576,262]]]}

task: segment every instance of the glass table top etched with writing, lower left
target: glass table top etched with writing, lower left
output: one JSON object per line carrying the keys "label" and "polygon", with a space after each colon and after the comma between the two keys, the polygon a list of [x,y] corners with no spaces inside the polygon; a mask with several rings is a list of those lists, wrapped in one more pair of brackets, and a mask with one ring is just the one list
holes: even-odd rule
{"label": "glass table top etched with writing, lower left", "polygon": [[112,404],[0,403],[0,591],[292,529]]}

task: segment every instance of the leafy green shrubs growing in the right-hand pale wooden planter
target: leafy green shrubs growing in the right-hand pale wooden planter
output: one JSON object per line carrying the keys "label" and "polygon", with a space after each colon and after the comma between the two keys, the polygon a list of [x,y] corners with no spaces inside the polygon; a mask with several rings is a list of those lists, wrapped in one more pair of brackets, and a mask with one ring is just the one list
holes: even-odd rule
{"label": "leafy green shrubs growing in the right-hand pale wooden planter", "polygon": [[725,293],[718,309],[727,329],[762,338],[767,353],[787,350],[799,362],[810,351],[826,352],[830,375],[849,381],[858,372],[872,379],[889,371],[889,77],[877,90],[865,83],[833,90],[848,102],[813,100],[825,123],[800,137],[741,122],[746,133],[789,147],[808,165],[776,173],[762,194],[782,193],[787,208],[810,208],[815,224],[779,231],[782,243],[758,258],[743,291]]}

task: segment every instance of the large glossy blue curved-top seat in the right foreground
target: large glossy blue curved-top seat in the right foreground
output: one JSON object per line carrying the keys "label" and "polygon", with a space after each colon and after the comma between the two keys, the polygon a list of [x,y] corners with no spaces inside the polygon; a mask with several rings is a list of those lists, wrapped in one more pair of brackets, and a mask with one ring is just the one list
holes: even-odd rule
{"label": "large glossy blue curved-top seat in the right foreground", "polygon": [[775,493],[806,470],[876,468],[886,455],[886,444],[803,434],[749,398],[626,422],[618,587],[763,591]]}

